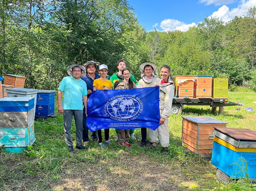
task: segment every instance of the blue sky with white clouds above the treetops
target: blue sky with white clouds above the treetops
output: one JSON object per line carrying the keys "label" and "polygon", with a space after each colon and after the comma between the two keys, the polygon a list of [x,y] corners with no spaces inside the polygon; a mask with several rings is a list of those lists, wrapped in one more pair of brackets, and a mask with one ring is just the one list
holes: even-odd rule
{"label": "blue sky with white clouds above the treetops", "polygon": [[187,31],[206,17],[230,21],[246,15],[256,0],[128,0],[147,31]]}

